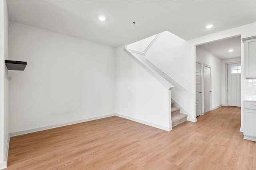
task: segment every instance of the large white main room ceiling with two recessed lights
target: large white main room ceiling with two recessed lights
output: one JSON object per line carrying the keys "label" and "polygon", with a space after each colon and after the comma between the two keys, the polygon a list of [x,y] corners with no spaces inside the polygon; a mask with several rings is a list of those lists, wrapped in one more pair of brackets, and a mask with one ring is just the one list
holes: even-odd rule
{"label": "large white main room ceiling with two recessed lights", "polygon": [[250,0],[8,0],[7,6],[9,20],[112,47],[166,30],[188,40],[256,22]]}

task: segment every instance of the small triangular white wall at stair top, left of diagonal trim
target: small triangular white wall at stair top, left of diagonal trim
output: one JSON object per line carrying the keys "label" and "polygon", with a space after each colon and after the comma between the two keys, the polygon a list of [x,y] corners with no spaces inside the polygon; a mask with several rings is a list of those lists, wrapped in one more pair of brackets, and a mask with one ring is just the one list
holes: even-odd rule
{"label": "small triangular white wall at stair top, left of diagonal trim", "polygon": [[151,43],[151,41],[156,37],[156,35],[153,35],[151,37],[142,39],[140,41],[136,41],[135,43],[131,43],[127,45],[128,49],[134,50],[134,51],[139,51],[139,52],[144,52],[144,50],[148,47],[148,45]]}

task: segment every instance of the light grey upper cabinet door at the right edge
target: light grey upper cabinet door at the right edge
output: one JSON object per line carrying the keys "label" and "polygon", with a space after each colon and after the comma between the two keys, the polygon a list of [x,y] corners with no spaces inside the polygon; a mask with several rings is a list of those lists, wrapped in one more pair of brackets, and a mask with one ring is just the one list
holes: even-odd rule
{"label": "light grey upper cabinet door at the right edge", "polygon": [[244,41],[245,77],[256,78],[256,39]]}

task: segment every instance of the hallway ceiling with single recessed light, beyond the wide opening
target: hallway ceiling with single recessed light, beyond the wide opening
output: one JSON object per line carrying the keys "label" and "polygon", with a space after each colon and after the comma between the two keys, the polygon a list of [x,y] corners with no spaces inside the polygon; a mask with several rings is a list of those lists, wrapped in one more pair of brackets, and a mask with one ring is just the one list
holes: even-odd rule
{"label": "hallway ceiling with single recessed light, beyond the wide opening", "polygon": [[[241,57],[241,36],[199,45],[221,60]],[[229,49],[233,49],[229,52]]]}

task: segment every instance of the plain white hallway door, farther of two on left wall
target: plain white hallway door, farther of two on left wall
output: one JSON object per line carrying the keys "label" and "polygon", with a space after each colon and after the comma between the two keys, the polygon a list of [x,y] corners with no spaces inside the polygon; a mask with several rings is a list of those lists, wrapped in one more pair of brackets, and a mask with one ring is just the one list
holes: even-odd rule
{"label": "plain white hallway door, farther of two on left wall", "polygon": [[211,68],[204,66],[204,113],[211,109],[212,97]]}

